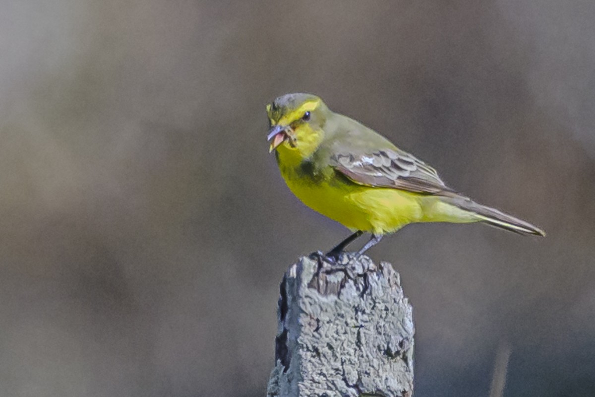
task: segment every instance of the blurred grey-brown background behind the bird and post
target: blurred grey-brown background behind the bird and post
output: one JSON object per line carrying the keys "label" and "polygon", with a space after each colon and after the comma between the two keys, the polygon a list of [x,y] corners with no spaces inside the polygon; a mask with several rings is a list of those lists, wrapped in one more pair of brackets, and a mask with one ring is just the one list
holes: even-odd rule
{"label": "blurred grey-brown background behind the bird and post", "polygon": [[0,395],[263,396],[278,282],[347,230],[284,186],[312,92],[543,227],[414,225],[416,395],[595,395],[595,3],[0,2]]}

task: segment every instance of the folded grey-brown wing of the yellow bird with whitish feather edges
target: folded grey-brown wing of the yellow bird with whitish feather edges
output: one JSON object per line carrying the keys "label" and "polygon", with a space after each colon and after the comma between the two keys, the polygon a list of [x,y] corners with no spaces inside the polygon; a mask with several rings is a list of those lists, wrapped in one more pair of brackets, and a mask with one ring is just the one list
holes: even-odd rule
{"label": "folded grey-brown wing of the yellow bird with whitish feather edges", "polygon": [[382,149],[367,154],[336,153],[331,166],[359,185],[392,187],[428,195],[453,192],[436,170],[399,149]]}

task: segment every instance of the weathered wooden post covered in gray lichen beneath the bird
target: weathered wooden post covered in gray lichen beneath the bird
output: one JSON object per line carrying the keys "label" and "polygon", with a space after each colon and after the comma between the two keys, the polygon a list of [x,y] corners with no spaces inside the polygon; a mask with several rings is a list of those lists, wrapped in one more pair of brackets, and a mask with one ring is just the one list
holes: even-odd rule
{"label": "weathered wooden post covered in gray lichen beneath the bird", "polygon": [[412,395],[412,308],[389,263],[302,257],[283,277],[277,314],[267,396]]}

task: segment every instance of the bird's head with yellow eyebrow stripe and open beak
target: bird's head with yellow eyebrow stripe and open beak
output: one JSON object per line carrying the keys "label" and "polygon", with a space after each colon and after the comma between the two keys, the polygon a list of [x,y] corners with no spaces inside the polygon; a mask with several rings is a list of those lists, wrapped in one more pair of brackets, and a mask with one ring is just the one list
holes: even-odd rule
{"label": "bird's head with yellow eyebrow stripe and open beak", "polygon": [[323,127],[329,114],[327,105],[315,95],[289,93],[275,99],[267,105],[269,151],[308,157],[324,138]]}

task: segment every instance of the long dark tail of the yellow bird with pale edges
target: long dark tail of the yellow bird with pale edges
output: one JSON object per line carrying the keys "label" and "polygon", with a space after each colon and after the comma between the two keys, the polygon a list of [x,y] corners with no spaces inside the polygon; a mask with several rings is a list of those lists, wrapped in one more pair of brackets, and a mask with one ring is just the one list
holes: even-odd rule
{"label": "long dark tail of the yellow bird with pale edges", "polygon": [[502,211],[498,211],[496,208],[477,204],[464,196],[457,195],[450,197],[448,202],[449,204],[455,205],[455,207],[461,208],[461,210],[471,212],[474,214],[474,217],[478,218],[478,220],[485,222],[490,226],[510,230],[511,232],[519,233],[519,235],[546,235],[546,232],[539,229],[537,226],[519,218],[515,218],[512,215],[505,214]]}

